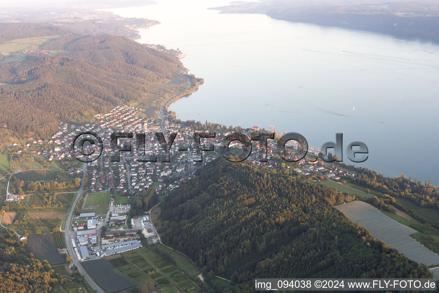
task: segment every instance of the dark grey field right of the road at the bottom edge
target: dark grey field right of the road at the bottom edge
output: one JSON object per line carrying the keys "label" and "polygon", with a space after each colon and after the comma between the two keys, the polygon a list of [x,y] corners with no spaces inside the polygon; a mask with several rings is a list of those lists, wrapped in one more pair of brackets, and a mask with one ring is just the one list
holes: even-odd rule
{"label": "dark grey field right of the road at the bottom edge", "polygon": [[113,270],[113,265],[105,258],[87,260],[82,263],[97,284],[107,293],[118,292],[135,285],[133,281]]}

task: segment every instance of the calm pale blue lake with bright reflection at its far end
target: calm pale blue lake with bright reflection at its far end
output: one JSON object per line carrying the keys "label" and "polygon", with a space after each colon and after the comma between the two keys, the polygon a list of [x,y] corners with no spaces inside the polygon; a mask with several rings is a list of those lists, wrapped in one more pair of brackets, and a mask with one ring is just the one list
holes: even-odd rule
{"label": "calm pale blue lake with bright reflection at its far end", "polygon": [[162,22],[138,41],[179,48],[204,78],[170,105],[178,118],[273,125],[317,148],[342,132],[346,163],[349,142],[363,141],[370,155],[357,166],[439,184],[438,45],[207,9],[225,1],[158,2],[112,11]]}

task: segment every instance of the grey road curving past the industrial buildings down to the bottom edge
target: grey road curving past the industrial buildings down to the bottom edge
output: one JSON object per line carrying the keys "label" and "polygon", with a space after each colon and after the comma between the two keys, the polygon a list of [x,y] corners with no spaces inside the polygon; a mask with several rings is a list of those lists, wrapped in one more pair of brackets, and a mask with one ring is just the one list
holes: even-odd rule
{"label": "grey road curving past the industrial buildings down to the bottom edge", "polygon": [[97,291],[97,293],[105,293],[104,290],[101,289],[101,287],[97,286],[96,282],[94,282],[93,279],[91,279],[90,275],[84,270],[83,266],[79,263],[78,258],[76,257],[76,253],[73,250],[72,247],[72,217],[75,213],[76,204],[78,203],[79,198],[81,197],[82,193],[84,192],[84,182],[85,182],[85,175],[87,172],[87,163],[84,163],[83,165],[83,180],[81,181],[81,186],[78,190],[78,195],[76,195],[75,201],[72,203],[72,209],[70,210],[70,213],[68,214],[67,221],[65,222],[65,230],[64,230],[64,236],[65,236],[65,244],[67,245],[68,254],[70,257],[72,257],[72,263],[76,265],[76,269],[84,275],[84,279],[92,286],[93,289]]}

